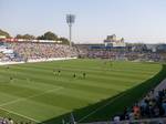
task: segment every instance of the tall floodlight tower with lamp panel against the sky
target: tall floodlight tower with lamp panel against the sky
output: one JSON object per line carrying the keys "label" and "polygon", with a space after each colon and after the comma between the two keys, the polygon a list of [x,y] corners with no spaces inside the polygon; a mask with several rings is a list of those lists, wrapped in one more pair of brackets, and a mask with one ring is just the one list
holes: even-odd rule
{"label": "tall floodlight tower with lamp panel against the sky", "polygon": [[70,40],[70,46],[72,46],[72,24],[75,21],[74,14],[66,14],[66,23],[69,24],[69,40]]}

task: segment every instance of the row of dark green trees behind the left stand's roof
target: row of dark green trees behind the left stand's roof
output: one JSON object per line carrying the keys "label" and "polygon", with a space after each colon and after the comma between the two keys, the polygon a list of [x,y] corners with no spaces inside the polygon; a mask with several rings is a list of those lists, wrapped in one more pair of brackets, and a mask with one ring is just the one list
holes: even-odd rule
{"label": "row of dark green trees behind the left stand's roof", "polygon": [[[7,31],[0,29],[0,35],[6,35],[6,38],[12,38]],[[17,34],[15,39],[27,39],[27,40],[53,40],[53,41],[62,41],[63,44],[69,44],[69,40],[63,37],[58,37],[55,33],[48,31],[42,35],[34,37],[32,34]]]}

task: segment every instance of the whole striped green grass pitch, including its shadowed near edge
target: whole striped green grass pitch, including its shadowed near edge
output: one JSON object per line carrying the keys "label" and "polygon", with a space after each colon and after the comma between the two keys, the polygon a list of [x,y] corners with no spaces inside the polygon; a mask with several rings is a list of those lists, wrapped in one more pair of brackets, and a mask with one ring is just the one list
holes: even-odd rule
{"label": "whole striped green grass pitch, including its shadowed near edge", "polygon": [[110,120],[159,83],[162,70],[157,63],[102,60],[0,66],[0,116],[56,124],[73,112],[79,122]]}

